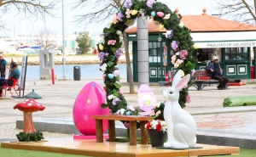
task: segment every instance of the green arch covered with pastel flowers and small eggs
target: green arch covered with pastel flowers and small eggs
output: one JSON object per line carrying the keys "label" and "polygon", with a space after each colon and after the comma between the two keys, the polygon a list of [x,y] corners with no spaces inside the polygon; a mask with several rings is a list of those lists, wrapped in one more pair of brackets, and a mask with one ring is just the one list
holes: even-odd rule
{"label": "green arch covered with pastel flowers and small eggs", "polygon": [[[154,17],[156,25],[160,29],[166,28],[166,38],[172,42],[172,49],[176,53],[172,56],[172,64],[178,69],[183,70],[184,75],[193,73],[195,69],[195,58],[193,57],[192,37],[190,30],[180,22],[181,14],[172,12],[166,4],[155,2],[154,0],[126,0],[124,5],[118,9],[118,13],[113,15],[113,22],[109,28],[104,28],[104,42],[97,44],[99,49],[99,58],[102,60],[100,70],[104,72],[104,83],[107,87],[107,104],[102,104],[102,108],[109,108],[113,114],[126,114],[134,111],[127,109],[127,103],[119,84],[119,70],[115,65],[121,56],[121,46],[119,36],[132,25],[137,17]],[[180,92],[179,104],[185,107],[186,98],[189,96],[189,87],[192,81],[189,81],[188,87]],[[137,112],[131,112],[131,115],[137,115]]]}

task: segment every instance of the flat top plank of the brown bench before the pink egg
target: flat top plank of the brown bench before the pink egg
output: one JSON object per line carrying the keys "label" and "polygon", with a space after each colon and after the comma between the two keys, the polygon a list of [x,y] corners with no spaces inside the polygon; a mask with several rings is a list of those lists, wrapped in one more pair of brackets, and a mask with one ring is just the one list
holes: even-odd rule
{"label": "flat top plank of the brown bench before the pink egg", "polygon": [[150,121],[151,116],[140,116],[140,115],[92,115],[91,119],[96,120],[114,120],[114,121]]}

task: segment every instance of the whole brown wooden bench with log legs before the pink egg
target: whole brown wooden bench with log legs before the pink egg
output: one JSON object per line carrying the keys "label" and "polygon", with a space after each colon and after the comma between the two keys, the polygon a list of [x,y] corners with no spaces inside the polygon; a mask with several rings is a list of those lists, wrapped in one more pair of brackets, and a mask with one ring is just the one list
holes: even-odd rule
{"label": "whole brown wooden bench with log legs before the pink egg", "polygon": [[137,145],[137,121],[141,123],[142,144],[148,144],[148,132],[145,125],[152,120],[151,116],[139,115],[92,115],[91,119],[96,119],[96,143],[103,143],[102,120],[108,120],[109,142],[115,141],[114,121],[129,121],[130,125],[130,145]]}

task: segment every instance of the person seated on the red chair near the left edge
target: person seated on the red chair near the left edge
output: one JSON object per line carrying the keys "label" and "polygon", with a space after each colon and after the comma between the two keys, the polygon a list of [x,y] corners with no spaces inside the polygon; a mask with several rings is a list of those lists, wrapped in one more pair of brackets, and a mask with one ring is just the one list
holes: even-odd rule
{"label": "person seated on the red chair near the left edge", "polygon": [[[20,79],[20,70],[18,69],[18,64],[16,62],[13,62],[12,64],[12,69],[10,69],[9,71],[9,77],[8,79],[16,79],[19,80]],[[12,86],[13,85],[13,81],[12,80],[8,80],[8,85]],[[0,97],[2,97],[2,86],[6,85],[6,79],[4,78],[0,78]]]}

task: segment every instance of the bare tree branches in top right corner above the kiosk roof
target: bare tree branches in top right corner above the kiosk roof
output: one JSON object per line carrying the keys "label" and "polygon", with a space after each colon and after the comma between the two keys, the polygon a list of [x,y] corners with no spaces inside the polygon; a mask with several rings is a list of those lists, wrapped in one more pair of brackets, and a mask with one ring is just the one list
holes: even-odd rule
{"label": "bare tree branches in top right corner above the kiosk roof", "polygon": [[215,0],[213,5],[219,17],[249,24],[256,21],[256,0]]}

